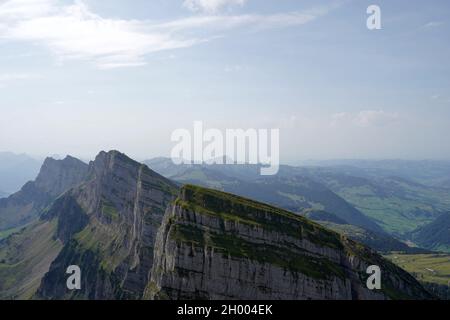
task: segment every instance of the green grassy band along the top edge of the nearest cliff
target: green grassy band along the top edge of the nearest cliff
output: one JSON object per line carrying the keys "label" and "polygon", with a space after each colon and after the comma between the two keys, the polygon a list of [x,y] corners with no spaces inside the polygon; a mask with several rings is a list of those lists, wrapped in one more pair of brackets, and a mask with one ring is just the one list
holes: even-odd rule
{"label": "green grassy band along the top edge of the nearest cliff", "polygon": [[334,231],[292,212],[226,192],[185,185],[176,203],[223,220],[232,220],[295,238],[305,238],[321,246],[343,248],[340,235]]}

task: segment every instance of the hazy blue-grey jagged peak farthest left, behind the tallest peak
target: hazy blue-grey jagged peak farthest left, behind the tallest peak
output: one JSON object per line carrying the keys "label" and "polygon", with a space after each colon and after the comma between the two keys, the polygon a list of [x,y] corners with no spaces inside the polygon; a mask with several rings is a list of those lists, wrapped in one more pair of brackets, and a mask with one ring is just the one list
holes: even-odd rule
{"label": "hazy blue-grey jagged peak farthest left, behind the tallest peak", "polygon": [[59,195],[82,183],[87,170],[87,164],[69,156],[64,160],[47,158],[35,181],[0,199],[0,231],[35,220]]}

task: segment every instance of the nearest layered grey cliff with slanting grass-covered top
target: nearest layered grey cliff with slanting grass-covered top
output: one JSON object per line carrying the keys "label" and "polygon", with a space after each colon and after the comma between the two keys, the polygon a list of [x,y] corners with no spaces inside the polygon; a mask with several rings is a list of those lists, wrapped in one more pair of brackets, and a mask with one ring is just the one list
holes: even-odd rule
{"label": "nearest layered grey cliff with slanting grass-covered top", "polygon": [[[382,270],[382,290],[366,269]],[[155,243],[146,298],[430,298],[409,274],[309,220],[241,197],[183,187]]]}

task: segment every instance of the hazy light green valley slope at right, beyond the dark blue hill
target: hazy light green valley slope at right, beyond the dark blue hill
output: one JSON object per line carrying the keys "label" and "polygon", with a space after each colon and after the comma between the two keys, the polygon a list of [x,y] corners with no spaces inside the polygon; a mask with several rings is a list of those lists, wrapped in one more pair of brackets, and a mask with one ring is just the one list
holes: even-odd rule
{"label": "hazy light green valley slope at right, beyond the dark blue hill", "polygon": [[448,190],[402,178],[367,179],[320,171],[312,175],[390,234],[403,236],[450,210]]}

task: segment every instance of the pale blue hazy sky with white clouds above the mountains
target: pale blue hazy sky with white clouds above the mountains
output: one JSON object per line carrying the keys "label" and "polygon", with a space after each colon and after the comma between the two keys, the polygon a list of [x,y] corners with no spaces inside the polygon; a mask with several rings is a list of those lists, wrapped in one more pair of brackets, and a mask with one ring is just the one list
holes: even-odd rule
{"label": "pale blue hazy sky with white clouds above the mountains", "polygon": [[279,128],[282,163],[450,159],[449,16],[435,0],[0,0],[0,151],[143,160],[202,121]]}

